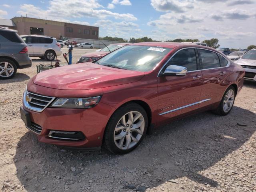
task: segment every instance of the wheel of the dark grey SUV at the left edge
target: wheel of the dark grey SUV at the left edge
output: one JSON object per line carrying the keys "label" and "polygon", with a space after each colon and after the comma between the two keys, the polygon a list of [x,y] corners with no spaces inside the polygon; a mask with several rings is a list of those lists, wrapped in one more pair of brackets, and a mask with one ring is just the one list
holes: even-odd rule
{"label": "wheel of the dark grey SUV at the left edge", "polygon": [[9,59],[0,59],[0,79],[13,78],[17,72],[16,64]]}

